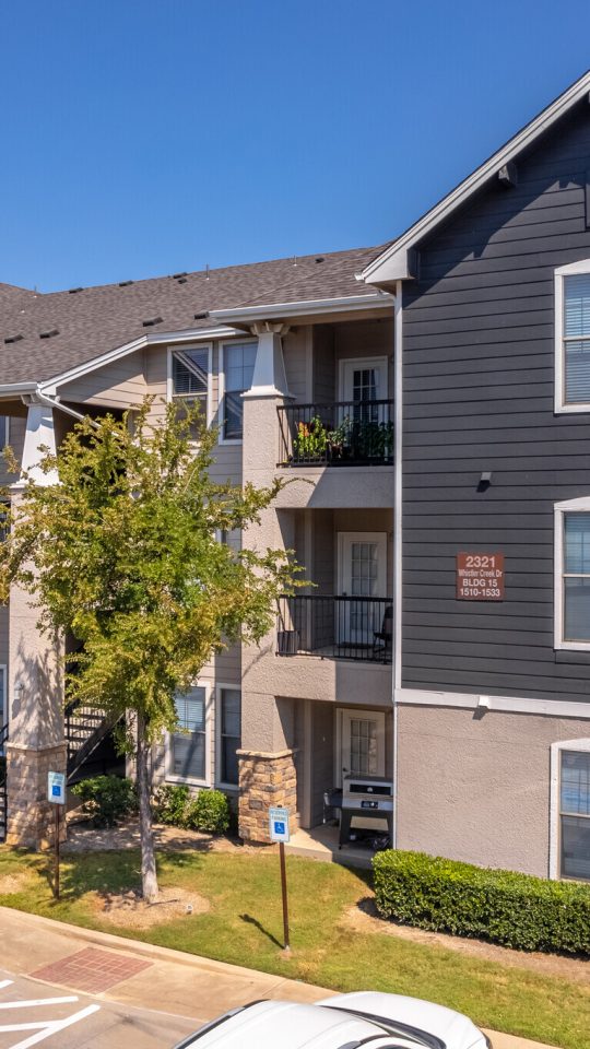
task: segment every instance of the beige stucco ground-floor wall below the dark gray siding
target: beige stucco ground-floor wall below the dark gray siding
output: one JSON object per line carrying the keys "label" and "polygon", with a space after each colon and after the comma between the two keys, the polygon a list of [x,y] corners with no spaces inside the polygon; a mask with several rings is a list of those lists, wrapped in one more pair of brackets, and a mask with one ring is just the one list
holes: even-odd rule
{"label": "beige stucco ground-floor wall below the dark gray siding", "polygon": [[548,874],[550,749],[590,719],[398,708],[398,847]]}

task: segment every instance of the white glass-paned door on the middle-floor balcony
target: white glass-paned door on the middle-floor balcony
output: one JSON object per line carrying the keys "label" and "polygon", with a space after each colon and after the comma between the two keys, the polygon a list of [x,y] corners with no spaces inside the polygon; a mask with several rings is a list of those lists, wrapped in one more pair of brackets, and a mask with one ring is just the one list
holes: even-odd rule
{"label": "white glass-paned door on the middle-floor balcony", "polygon": [[[386,532],[339,532],[339,593],[346,598],[387,596]],[[337,602],[340,645],[374,643],[382,627],[384,604],[367,600]]]}

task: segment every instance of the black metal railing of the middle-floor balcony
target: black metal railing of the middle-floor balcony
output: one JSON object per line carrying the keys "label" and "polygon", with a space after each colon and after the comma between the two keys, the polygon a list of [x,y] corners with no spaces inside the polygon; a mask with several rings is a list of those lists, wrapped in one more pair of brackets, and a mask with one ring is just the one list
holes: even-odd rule
{"label": "black metal railing of the middle-floor balcony", "polygon": [[391,598],[296,594],[279,599],[278,656],[321,656],[390,663]]}

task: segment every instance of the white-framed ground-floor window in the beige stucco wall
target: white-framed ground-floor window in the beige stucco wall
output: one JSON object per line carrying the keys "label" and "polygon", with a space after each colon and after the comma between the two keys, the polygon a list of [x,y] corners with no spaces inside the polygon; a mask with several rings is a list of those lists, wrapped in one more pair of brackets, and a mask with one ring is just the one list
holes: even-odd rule
{"label": "white-framed ground-floor window in the beige stucco wall", "polygon": [[590,881],[590,739],[551,747],[552,877]]}

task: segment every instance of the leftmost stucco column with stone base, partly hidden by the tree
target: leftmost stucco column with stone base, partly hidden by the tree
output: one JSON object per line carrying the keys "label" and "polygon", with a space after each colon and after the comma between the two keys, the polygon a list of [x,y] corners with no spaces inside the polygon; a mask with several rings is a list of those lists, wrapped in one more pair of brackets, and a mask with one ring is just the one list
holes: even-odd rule
{"label": "leftmost stucco column with stone base, partly hidden by the tree", "polygon": [[[11,487],[12,504],[22,497],[25,472],[37,484],[57,481],[39,469],[39,446],[55,451],[50,408],[32,402],[23,450],[23,475]],[[8,833],[11,845],[43,847],[51,835],[47,773],[66,771],[61,641],[42,633],[39,610],[28,593],[13,586],[9,604],[7,744]]]}

